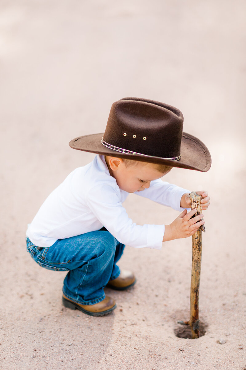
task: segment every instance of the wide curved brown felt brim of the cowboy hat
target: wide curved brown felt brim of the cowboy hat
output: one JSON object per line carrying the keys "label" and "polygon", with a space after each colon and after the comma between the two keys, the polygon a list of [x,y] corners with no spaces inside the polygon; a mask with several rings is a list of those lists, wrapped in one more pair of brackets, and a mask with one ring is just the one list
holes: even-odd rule
{"label": "wide curved brown felt brim of the cowboy hat", "polygon": [[141,154],[126,154],[105,147],[101,143],[103,133],[85,135],[77,137],[69,142],[73,149],[84,152],[96,153],[101,155],[110,155],[111,157],[120,157],[133,159],[135,161],[164,164],[172,167],[194,169],[196,171],[207,172],[211,167],[211,155],[208,148],[198,138],[183,132],[181,140],[181,159],[173,161],[160,157],[150,157]]}

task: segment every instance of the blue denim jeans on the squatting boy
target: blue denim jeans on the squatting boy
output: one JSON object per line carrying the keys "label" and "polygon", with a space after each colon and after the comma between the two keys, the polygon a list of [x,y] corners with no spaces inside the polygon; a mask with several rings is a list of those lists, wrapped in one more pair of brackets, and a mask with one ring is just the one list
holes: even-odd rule
{"label": "blue denim jeans on the squatting boy", "polygon": [[124,244],[118,242],[104,228],[67,239],[58,239],[47,248],[34,245],[26,238],[31,257],[49,270],[69,271],[64,280],[63,293],[74,302],[94,305],[105,298],[104,287],[116,279],[120,270],[116,265]]}

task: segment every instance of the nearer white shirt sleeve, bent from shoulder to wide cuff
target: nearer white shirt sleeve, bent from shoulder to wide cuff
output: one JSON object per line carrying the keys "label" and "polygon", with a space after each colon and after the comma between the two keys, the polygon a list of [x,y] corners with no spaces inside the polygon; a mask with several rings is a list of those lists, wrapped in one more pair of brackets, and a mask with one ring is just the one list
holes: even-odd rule
{"label": "nearer white shirt sleeve, bent from shoulder to wide cuff", "polygon": [[120,242],[135,248],[162,248],[164,225],[136,225],[122,206],[120,192],[108,184],[98,184],[87,193],[87,206]]}

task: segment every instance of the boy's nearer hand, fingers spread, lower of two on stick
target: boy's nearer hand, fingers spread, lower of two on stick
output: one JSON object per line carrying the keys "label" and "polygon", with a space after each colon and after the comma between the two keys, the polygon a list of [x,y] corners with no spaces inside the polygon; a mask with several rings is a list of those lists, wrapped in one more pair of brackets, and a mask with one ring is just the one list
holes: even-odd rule
{"label": "boy's nearer hand, fingers spread, lower of two on stick", "polygon": [[185,209],[172,223],[170,223],[170,225],[165,225],[163,242],[166,242],[167,240],[187,238],[197,232],[200,226],[204,225],[205,222],[204,220],[199,221],[203,217],[202,213],[201,215],[191,218],[196,211],[196,209],[193,209],[187,213],[187,209]]}

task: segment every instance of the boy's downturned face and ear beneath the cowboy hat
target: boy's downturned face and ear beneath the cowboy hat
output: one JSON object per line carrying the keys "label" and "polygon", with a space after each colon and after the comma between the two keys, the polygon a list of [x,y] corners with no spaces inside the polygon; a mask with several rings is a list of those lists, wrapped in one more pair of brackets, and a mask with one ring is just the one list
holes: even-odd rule
{"label": "boy's downturned face and ear beneath the cowboy hat", "polygon": [[[106,162],[108,161],[106,160]],[[111,175],[115,178],[119,188],[128,193],[149,188],[150,181],[164,176],[154,164],[139,162],[135,165],[125,166],[121,158],[114,158],[107,164],[108,167],[110,166]]]}

